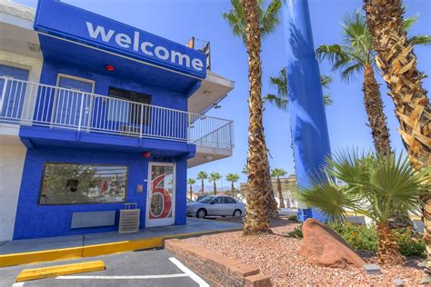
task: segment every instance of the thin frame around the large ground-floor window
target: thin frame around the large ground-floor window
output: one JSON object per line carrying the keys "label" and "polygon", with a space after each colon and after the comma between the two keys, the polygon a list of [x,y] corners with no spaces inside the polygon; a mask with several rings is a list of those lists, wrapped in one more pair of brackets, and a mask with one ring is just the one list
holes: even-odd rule
{"label": "thin frame around the large ground-floor window", "polygon": [[[123,166],[126,169],[126,175],[125,175],[125,199],[122,202],[115,202],[115,203],[41,203],[42,198],[42,191],[44,188],[44,178],[45,178],[45,169],[46,164],[49,163],[57,163],[57,164],[75,164],[75,165],[101,165],[101,166]],[[124,204],[127,203],[127,190],[128,190],[128,183],[129,183],[129,170],[130,166],[128,164],[114,164],[114,163],[73,163],[73,162],[44,162],[44,167],[42,169],[41,174],[41,180],[39,184],[39,194],[37,196],[37,205],[38,206],[45,206],[45,205],[91,205],[91,204]]]}

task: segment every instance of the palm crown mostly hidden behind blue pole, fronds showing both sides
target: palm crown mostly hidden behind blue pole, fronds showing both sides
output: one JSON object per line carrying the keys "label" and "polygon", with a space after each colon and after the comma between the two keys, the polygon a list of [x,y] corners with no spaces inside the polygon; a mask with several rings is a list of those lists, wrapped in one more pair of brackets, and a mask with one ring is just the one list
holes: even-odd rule
{"label": "palm crown mostly hidden behind blue pole, fronds showing both sides", "polygon": [[[332,84],[332,82],[334,82],[334,79],[331,76],[323,74],[320,76],[322,87],[329,89],[329,84]],[[286,68],[281,69],[277,76],[270,76],[269,84],[276,87],[277,94],[266,94],[263,98],[264,102],[268,101],[276,105],[280,110],[286,111],[289,103]],[[324,94],[323,99],[326,106],[334,103],[329,94]]]}

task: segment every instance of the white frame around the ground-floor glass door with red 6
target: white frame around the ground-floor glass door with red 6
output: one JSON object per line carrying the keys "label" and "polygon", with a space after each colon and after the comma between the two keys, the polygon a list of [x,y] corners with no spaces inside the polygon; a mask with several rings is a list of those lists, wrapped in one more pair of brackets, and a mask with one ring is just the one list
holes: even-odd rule
{"label": "white frame around the ground-floor glass door with red 6", "polygon": [[[172,166],[174,168],[173,171],[173,180],[172,180],[172,217],[171,218],[156,218],[149,219],[150,214],[150,204],[151,204],[151,169],[153,166]],[[175,224],[175,198],[176,198],[176,163],[156,163],[149,162],[148,163],[148,177],[146,183],[146,213],[145,213],[145,227],[155,227],[155,226],[167,226]]]}

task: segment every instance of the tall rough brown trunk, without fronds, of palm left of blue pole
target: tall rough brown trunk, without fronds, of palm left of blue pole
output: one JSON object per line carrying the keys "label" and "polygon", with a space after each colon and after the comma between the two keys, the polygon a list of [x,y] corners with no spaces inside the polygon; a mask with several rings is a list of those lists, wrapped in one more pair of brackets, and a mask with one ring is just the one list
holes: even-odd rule
{"label": "tall rough brown trunk, without fronds, of palm left of blue pole", "polygon": [[244,223],[245,234],[268,233],[267,213],[268,191],[270,186],[269,166],[267,165],[266,143],[262,123],[262,69],[260,62],[260,30],[256,0],[243,0],[245,7],[248,81],[248,193],[246,193],[247,213]]}

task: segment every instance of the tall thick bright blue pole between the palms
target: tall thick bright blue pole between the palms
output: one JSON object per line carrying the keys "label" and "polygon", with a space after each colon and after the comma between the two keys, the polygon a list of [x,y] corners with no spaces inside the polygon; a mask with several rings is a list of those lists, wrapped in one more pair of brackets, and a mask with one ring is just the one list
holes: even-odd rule
{"label": "tall thick bright blue pole between the palms", "polygon": [[[287,54],[289,112],[298,186],[309,186],[331,152],[325,105],[307,0],[286,0],[283,8]],[[300,204],[298,220],[324,219]]]}

